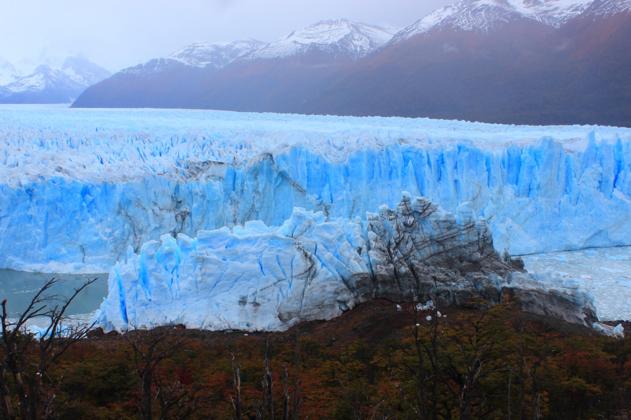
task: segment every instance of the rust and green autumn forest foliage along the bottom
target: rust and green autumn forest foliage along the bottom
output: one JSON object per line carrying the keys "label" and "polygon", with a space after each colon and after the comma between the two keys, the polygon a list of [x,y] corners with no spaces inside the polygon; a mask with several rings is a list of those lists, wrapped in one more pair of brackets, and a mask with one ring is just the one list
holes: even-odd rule
{"label": "rust and green autumn forest foliage along the bottom", "polygon": [[510,304],[403,310],[409,325],[376,343],[172,326],[82,339],[50,366],[41,418],[631,419],[629,339],[562,334]]}

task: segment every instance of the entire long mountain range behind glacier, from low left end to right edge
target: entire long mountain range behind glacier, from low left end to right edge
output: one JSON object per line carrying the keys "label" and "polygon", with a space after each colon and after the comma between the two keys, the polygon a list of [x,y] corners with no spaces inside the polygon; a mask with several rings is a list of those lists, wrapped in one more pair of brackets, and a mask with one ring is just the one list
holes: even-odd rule
{"label": "entire long mountain range behind glacier, from low left end to right edge", "polygon": [[631,125],[631,0],[464,0],[403,30],[321,21],[273,43],[196,43],[74,107]]}

